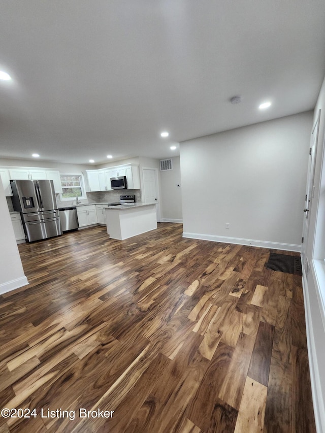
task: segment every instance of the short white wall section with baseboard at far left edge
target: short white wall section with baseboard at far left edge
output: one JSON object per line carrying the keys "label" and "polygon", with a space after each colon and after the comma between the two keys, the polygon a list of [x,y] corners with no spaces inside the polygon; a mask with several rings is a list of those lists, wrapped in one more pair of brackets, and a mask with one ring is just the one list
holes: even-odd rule
{"label": "short white wall section with baseboard at far left edge", "polygon": [[0,179],[0,294],[28,284],[21,264],[5,191]]}

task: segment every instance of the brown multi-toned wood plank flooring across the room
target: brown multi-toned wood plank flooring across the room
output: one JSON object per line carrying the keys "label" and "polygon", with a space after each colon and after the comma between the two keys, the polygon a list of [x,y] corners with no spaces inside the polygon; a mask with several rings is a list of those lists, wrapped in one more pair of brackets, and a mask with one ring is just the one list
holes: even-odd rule
{"label": "brown multi-toned wood plank flooring across the room", "polygon": [[0,433],[315,432],[301,278],[266,270],[270,250],[160,223],[19,251],[30,284],[0,296],[0,408],[36,416],[0,416]]}

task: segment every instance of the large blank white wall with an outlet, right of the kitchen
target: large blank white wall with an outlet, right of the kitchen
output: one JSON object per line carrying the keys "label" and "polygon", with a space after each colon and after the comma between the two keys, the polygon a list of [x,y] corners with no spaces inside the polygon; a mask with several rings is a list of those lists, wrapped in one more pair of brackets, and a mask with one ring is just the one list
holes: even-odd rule
{"label": "large blank white wall with an outlet, right of the kitchen", "polygon": [[300,251],[312,116],[182,142],[184,236]]}

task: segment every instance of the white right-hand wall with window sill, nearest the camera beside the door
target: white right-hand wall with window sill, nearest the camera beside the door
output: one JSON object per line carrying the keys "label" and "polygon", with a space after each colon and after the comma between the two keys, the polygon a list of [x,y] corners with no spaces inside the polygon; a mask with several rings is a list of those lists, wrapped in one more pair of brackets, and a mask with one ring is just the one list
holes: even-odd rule
{"label": "white right-hand wall with window sill, nearest the camera beside the door", "polygon": [[[306,263],[303,273],[309,368],[317,431],[325,431],[325,79],[314,110],[320,111],[314,198],[309,213]],[[311,132],[311,131],[310,131]]]}

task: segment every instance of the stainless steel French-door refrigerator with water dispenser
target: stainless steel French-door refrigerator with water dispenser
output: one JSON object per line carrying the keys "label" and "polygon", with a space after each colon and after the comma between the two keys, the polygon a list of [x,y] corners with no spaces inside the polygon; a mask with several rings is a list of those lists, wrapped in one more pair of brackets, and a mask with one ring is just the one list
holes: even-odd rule
{"label": "stainless steel French-door refrigerator with water dispenser", "polygon": [[11,180],[14,210],[20,212],[26,241],[62,235],[52,180]]}

